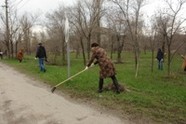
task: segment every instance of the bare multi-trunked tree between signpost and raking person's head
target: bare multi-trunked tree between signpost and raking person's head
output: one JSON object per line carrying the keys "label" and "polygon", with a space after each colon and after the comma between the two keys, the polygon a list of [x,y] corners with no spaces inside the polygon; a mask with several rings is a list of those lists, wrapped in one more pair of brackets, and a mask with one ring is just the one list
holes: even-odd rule
{"label": "bare multi-trunked tree between signpost and raking person's head", "polygon": [[[74,32],[79,37],[84,64],[86,64],[85,48],[87,56],[90,57],[91,41],[97,39],[100,43],[100,20],[103,16],[103,0],[79,0],[77,5],[71,10],[70,22],[74,27]],[[97,38],[94,36],[97,35]],[[84,41],[86,40],[86,43]]]}

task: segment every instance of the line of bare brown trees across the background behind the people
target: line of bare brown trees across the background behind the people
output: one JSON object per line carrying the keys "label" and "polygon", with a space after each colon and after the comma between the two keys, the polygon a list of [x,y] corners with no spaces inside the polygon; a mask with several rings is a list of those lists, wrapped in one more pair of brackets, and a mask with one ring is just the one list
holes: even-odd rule
{"label": "line of bare brown trees across the background behind the people", "polygon": [[[16,57],[19,49],[25,54],[34,54],[38,42],[42,42],[51,64],[66,65],[66,43],[64,35],[65,16],[70,22],[70,49],[76,57],[83,56],[85,65],[90,58],[90,44],[98,42],[116,63],[122,63],[122,52],[134,54],[135,77],[138,75],[140,53],[152,52],[153,71],[156,51],[161,48],[167,57],[167,73],[170,75],[171,62],[176,53],[186,54],[186,31],[183,7],[186,0],[163,0],[164,8],[157,8],[146,22],[142,11],[146,0],[78,0],[73,6],[63,5],[47,13],[25,13],[18,16],[5,0],[5,13],[1,12],[0,50],[9,58]],[[43,30],[35,31],[36,27]]]}

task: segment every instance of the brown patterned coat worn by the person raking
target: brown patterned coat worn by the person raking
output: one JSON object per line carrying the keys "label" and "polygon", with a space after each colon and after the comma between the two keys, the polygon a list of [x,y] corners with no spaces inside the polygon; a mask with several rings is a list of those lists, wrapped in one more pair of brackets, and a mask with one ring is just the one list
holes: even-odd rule
{"label": "brown patterned coat worn by the person raking", "polygon": [[96,49],[92,51],[91,59],[87,64],[88,67],[94,62],[94,59],[97,60],[94,64],[98,63],[100,67],[101,78],[111,77],[116,74],[114,64],[112,63],[111,59],[107,57],[107,54],[103,48],[96,47]]}

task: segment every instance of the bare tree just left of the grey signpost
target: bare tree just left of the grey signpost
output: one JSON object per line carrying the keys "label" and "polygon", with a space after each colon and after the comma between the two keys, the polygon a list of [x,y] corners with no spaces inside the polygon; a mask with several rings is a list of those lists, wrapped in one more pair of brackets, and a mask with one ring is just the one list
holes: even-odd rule
{"label": "bare tree just left of the grey signpost", "polygon": [[62,65],[66,64],[66,46],[64,36],[65,11],[64,6],[60,6],[58,10],[48,13],[46,16],[46,28],[50,41],[50,43],[48,43],[50,45],[50,51],[54,54],[54,61],[57,55],[61,53]]}

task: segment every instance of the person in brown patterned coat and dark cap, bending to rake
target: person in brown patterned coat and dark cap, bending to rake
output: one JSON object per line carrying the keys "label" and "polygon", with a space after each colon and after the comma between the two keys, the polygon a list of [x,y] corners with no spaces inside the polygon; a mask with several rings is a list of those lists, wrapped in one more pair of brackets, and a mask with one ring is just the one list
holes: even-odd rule
{"label": "person in brown patterned coat and dark cap, bending to rake", "polygon": [[[109,77],[112,79],[114,86],[116,87],[116,93],[120,93],[119,84],[116,79],[116,71],[114,64],[111,59],[107,57],[106,51],[101,48],[98,43],[91,44],[92,56],[89,60],[85,69],[88,69],[92,64],[98,64],[100,67],[100,76],[99,76],[99,87],[98,93],[103,91],[104,79]],[[94,60],[96,61],[94,62]]]}

